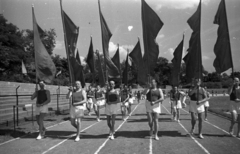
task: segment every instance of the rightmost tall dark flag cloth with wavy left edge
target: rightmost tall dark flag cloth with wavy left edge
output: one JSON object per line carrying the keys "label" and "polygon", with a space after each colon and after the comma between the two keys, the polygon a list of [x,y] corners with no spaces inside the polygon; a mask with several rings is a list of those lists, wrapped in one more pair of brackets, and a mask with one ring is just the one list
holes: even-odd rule
{"label": "rightmost tall dark flag cloth with wavy left edge", "polygon": [[213,66],[217,73],[222,73],[229,68],[233,68],[225,0],[221,0],[213,23],[219,25],[217,42],[214,46],[216,59]]}

